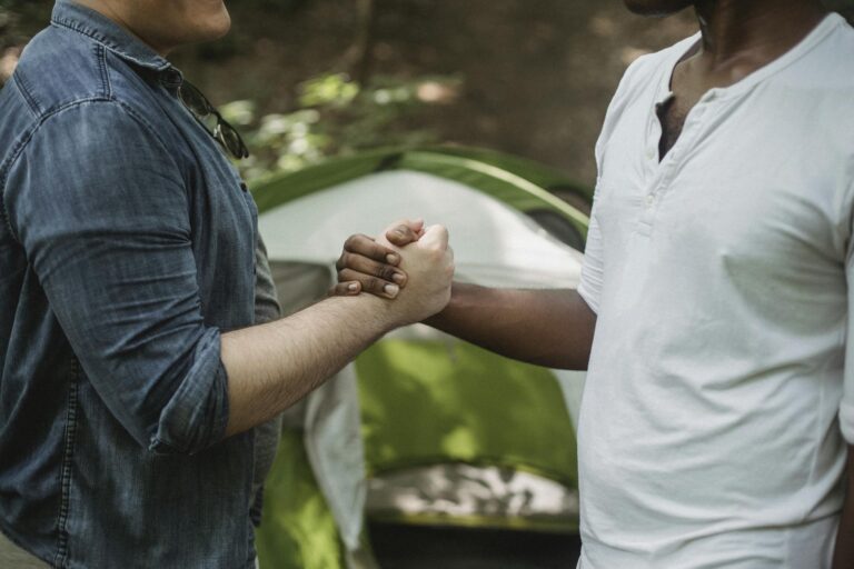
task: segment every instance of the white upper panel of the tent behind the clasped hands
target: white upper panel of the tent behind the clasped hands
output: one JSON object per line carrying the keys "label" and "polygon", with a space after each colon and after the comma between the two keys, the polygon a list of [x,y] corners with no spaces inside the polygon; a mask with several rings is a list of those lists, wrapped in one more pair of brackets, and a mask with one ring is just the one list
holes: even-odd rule
{"label": "white upper panel of the tent behind the clasped hands", "polygon": [[582,253],[500,201],[421,172],[380,172],[306,196],[265,212],[259,229],[271,260],[331,264],[346,237],[377,234],[404,218],[448,228],[465,280],[509,287],[578,283]]}

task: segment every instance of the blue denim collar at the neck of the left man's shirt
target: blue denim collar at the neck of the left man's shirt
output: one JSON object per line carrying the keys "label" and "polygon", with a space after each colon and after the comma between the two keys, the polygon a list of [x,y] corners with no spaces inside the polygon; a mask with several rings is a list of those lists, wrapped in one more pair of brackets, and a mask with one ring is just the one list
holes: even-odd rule
{"label": "blue denim collar at the neck of the left man's shirt", "polygon": [[136,66],[155,71],[177,71],[169,61],[118,23],[72,0],[57,0],[51,21],[54,26],[62,26],[89,36],[121,59]]}

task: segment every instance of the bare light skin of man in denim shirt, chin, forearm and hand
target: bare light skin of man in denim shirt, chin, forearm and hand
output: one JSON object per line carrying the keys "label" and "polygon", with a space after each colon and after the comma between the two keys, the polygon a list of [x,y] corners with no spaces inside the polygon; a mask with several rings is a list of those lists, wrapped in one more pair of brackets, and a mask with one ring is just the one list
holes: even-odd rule
{"label": "bare light skin of man in denim shirt, chin, forearm and hand", "polygon": [[[161,54],[216,39],[230,20],[221,0],[79,0]],[[417,242],[385,243],[407,274],[394,302],[374,296],[329,298],[289,318],[221,336],[228,375],[227,436],[292,406],[384,333],[440,311],[450,299],[454,254],[445,228],[419,227]]]}

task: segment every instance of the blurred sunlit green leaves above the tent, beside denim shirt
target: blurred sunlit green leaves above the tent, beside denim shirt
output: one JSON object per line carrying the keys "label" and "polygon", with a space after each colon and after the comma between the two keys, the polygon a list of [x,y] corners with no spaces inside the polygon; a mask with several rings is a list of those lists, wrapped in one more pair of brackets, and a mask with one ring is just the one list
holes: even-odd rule
{"label": "blurred sunlit green leaves above the tent, beside denim shirt", "polygon": [[237,166],[251,180],[329,156],[437,142],[436,132],[407,128],[407,121],[430,104],[453,100],[460,83],[455,77],[375,77],[363,87],[345,73],[330,72],[301,83],[298,106],[290,112],[258,116],[251,100],[230,102],[220,112],[249,147],[251,156]]}

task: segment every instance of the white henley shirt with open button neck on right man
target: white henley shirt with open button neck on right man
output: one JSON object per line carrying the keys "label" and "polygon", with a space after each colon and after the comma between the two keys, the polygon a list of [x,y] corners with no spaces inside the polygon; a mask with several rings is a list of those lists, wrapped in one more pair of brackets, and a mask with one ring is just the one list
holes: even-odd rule
{"label": "white henley shirt with open button neck on right man", "polygon": [[854,442],[854,30],[831,14],[711,90],[659,162],[655,104],[697,39],[628,69],[596,148],[580,567],[830,567]]}

